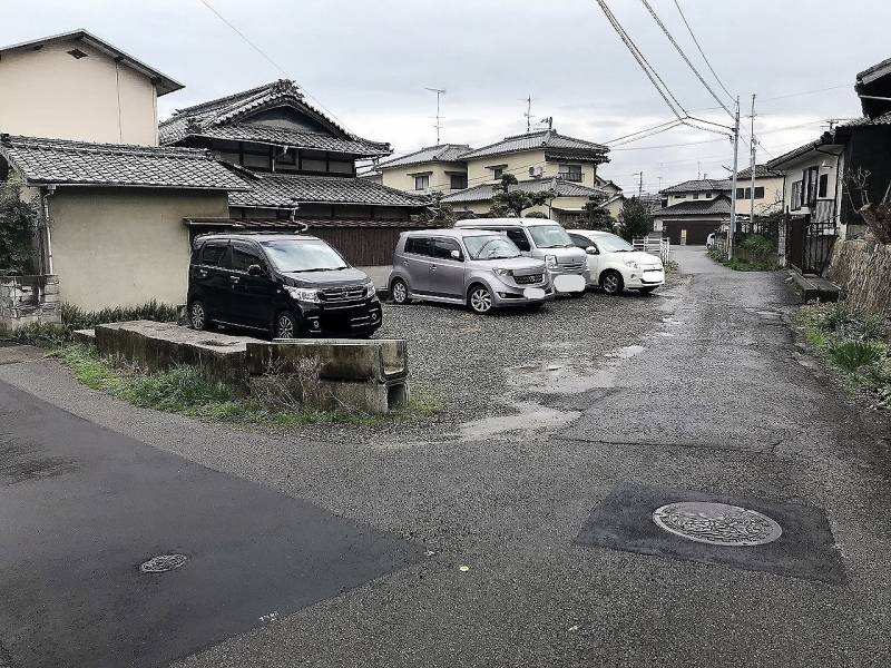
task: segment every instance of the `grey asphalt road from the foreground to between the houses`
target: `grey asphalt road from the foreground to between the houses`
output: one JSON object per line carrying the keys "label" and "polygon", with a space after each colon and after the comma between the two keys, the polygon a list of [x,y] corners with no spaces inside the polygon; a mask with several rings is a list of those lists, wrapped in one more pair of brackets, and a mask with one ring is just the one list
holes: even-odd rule
{"label": "grey asphalt road from the foreground to between the houses", "polygon": [[[0,582],[30,597],[0,602],[0,639],[13,666],[53,665],[38,662],[52,629],[29,622],[22,611],[55,608],[55,629],[76,617],[58,605],[56,587],[46,586],[61,556],[40,558],[67,544],[65,527],[90,531],[90,550],[101,551],[111,539],[126,547],[114,553],[118,572],[127,564],[130,580],[143,554],[174,544],[139,542],[124,529],[123,510],[115,513],[116,531],[96,520],[92,503],[85,505],[89,512],[65,511],[80,502],[63,492],[71,477],[108,482],[124,473],[128,483],[118,491],[127,499],[141,469],[124,461],[101,473],[107,458],[135,456],[127,453],[157,466],[157,495],[189,498],[178,504],[177,521],[186,529],[215,514],[202,515],[213,497],[203,503],[175,475],[177,465],[196,462],[222,472],[222,482],[207,481],[208,493],[222,485],[238,499],[268,494],[263,503],[281,512],[313,509],[325,513],[320,520],[370,528],[375,544],[384,546],[375,554],[385,574],[320,595],[306,607],[288,599],[293,590],[285,587],[270,591],[264,609],[278,609],[278,599],[291,602],[258,628],[216,628],[219,608],[206,608],[203,623],[217,637],[198,644],[212,646],[177,668],[891,664],[887,445],[869,435],[840,387],[794,345],[783,320],[792,299],[782,275],[733,273],[696,249],[678,249],[677,257],[687,282],[659,302],[639,302],[664,311],[639,346],[605,358],[597,382],[582,391],[530,390],[537,406],[568,416],[548,430],[507,425],[477,439],[472,431],[468,440],[431,433],[424,441],[388,436],[372,445],[284,440],[133,409],[85,391],[52,363],[0,366],[0,381],[89,421],[68,416],[63,430],[20,439],[10,436],[2,415],[0,432],[13,446],[47,459],[85,458],[76,470],[57,462],[52,477],[0,488]],[[16,396],[25,414],[56,415],[47,404]],[[45,430],[43,422],[52,420],[38,419],[33,429]],[[520,414],[515,426],[522,423]],[[106,434],[108,443],[94,452],[90,438],[71,440],[78,425]],[[151,463],[167,458],[177,463]],[[28,485],[43,485],[42,494],[27,493]],[[649,521],[654,505],[684,500],[752,508],[775,519],[783,534],[768,546],[699,550]],[[159,518],[159,536],[172,517]],[[41,537],[37,546],[28,528],[45,524],[55,533],[31,531]],[[260,536],[257,546],[268,539]],[[176,542],[187,551],[188,540],[186,531]],[[412,561],[417,552],[407,546],[420,546],[423,558]],[[98,582],[115,570],[97,562],[94,586],[106,591]],[[71,622],[66,637],[75,641],[78,630]],[[148,633],[145,651],[175,640],[183,644],[174,654],[189,654],[184,635],[176,625],[165,636]]]}

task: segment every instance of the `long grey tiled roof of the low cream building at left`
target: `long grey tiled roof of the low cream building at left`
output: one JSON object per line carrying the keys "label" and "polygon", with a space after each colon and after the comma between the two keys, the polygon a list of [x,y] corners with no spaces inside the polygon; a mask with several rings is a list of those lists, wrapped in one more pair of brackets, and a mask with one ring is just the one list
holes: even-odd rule
{"label": "long grey tiled roof of the low cream building at left", "polygon": [[[247,190],[252,177],[208,151],[0,136],[0,154],[28,185]],[[244,176],[242,176],[244,174]]]}

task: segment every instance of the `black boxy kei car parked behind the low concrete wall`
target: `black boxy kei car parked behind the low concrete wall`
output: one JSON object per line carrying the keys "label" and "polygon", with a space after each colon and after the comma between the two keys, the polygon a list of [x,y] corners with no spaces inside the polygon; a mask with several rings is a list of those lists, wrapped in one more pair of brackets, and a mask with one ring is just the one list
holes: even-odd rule
{"label": "black boxy kei car parked behind the low concrete wall", "polygon": [[274,338],[371,336],[381,326],[374,284],[322,239],[303,234],[196,237],[188,320],[263,331]]}

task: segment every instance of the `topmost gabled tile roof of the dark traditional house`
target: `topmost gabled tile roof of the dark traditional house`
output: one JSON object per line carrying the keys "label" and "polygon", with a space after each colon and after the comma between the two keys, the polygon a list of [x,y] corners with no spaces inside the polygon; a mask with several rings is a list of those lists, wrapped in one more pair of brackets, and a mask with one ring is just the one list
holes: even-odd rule
{"label": "topmost gabled tile roof of the dark traditional house", "polygon": [[[278,128],[264,128],[241,122],[252,114],[264,109],[290,106],[298,109],[320,125],[331,131],[331,148],[339,153],[355,153],[361,156],[382,156],[390,154],[390,145],[370,141],[347,131],[322,110],[304,99],[303,91],[296,84],[288,79],[280,79],[265,86],[236,92],[224,98],[210,100],[185,109],[178,109],[174,115],[160,124],[158,131],[161,144],[176,144],[186,137],[217,137],[243,141],[261,141],[271,144],[287,144],[301,146],[296,143],[278,141],[278,139],[295,138],[304,141],[321,141],[316,132],[302,132],[296,130],[278,130]],[[219,135],[221,128],[225,136]],[[272,129],[272,132],[264,130]],[[217,132],[217,134],[214,134]],[[301,146],[315,148],[314,146]],[[347,150],[349,148],[358,149]]]}

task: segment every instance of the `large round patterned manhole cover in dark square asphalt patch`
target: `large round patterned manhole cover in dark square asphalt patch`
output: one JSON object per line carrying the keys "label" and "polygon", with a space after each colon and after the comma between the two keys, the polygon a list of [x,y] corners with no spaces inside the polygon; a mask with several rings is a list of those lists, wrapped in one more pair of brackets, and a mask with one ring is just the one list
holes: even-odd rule
{"label": "large round patterned manhole cover in dark square asphalt patch", "polygon": [[656,509],[653,521],[660,529],[713,546],[763,546],[783,534],[780,524],[767,515],[726,503],[668,503]]}

